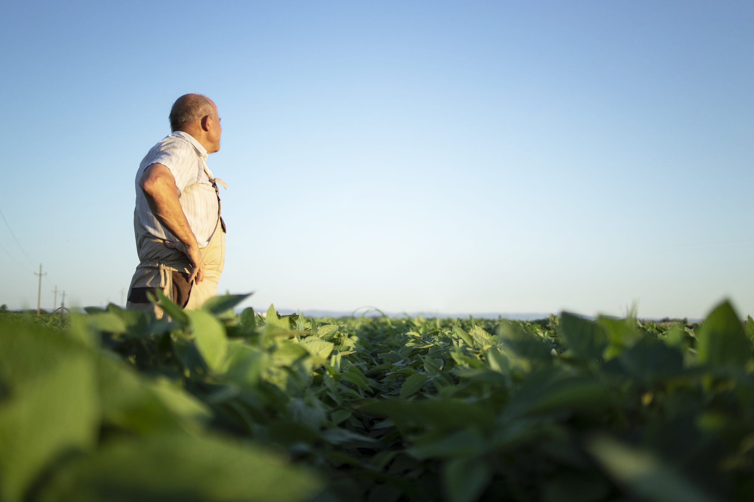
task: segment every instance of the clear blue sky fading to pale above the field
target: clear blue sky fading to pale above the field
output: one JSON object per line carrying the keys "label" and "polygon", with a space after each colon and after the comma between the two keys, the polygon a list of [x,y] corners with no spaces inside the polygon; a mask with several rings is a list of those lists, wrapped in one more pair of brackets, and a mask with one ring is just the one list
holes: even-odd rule
{"label": "clear blue sky fading to pale above the field", "polygon": [[40,262],[43,306],[120,302],[133,177],[198,92],[219,289],[249,305],[754,313],[752,26],[751,2],[15,2],[0,303],[35,306]]}

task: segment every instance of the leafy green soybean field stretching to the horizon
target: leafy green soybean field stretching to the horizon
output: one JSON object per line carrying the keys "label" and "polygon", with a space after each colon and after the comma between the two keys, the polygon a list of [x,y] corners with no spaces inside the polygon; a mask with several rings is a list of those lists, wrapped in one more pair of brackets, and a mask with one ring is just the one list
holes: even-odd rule
{"label": "leafy green soybean field stretching to the horizon", "polygon": [[754,321],[0,313],[0,500],[754,499]]}

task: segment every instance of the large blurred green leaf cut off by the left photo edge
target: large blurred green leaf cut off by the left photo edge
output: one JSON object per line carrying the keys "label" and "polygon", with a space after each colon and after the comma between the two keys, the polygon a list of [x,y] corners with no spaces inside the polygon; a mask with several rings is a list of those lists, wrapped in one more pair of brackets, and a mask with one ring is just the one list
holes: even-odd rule
{"label": "large blurred green leaf cut off by the left photo edge", "polygon": [[60,455],[93,449],[95,371],[93,352],[60,333],[0,324],[0,500],[22,500]]}

